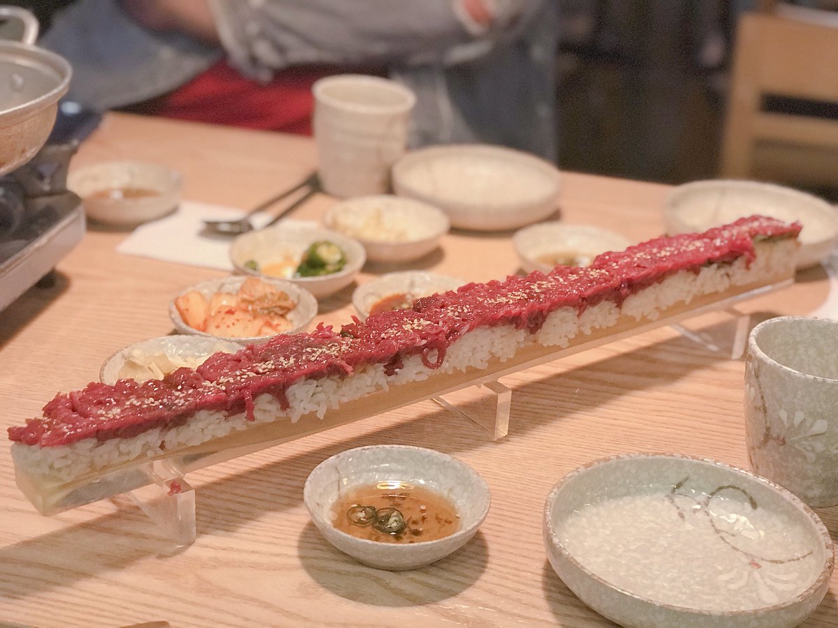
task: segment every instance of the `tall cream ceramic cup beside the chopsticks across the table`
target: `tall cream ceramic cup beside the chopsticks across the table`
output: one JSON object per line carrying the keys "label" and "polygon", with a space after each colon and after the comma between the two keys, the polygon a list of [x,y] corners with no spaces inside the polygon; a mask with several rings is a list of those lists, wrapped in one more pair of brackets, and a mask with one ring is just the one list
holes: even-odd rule
{"label": "tall cream ceramic cup beside the chopsticks across the table", "polygon": [[407,146],[416,96],[378,76],[335,75],[313,85],[320,183],[333,196],[385,193]]}

